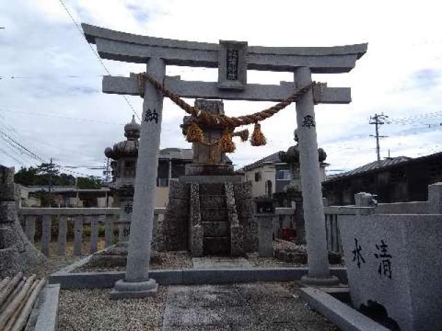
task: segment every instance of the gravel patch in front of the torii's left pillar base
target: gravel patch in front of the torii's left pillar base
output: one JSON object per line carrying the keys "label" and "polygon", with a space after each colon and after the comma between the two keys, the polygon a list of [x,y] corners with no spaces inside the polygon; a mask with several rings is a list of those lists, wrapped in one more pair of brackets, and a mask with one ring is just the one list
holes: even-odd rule
{"label": "gravel patch in front of the torii's left pillar base", "polygon": [[61,290],[59,331],[155,330],[162,328],[166,288],[145,299],[109,299],[110,289]]}

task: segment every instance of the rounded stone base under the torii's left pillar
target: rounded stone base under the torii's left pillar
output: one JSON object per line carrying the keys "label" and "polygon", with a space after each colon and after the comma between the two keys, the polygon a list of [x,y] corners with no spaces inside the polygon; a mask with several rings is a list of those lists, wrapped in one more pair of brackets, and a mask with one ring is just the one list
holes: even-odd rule
{"label": "rounded stone base under the torii's left pillar", "polygon": [[155,295],[158,284],[154,279],[129,282],[124,279],[115,283],[111,291],[111,299],[136,299]]}

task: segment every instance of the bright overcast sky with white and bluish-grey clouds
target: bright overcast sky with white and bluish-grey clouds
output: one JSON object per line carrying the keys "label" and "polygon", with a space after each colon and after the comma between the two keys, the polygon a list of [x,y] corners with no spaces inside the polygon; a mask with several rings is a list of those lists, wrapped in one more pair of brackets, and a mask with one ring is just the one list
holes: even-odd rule
{"label": "bright overcast sky with white and bluish-grey clouds", "polygon": [[[340,46],[368,43],[348,74],[316,74],[332,87],[351,87],[349,105],[316,106],[318,143],[330,173],[376,160],[369,117],[387,114],[381,157],[420,157],[442,149],[442,37],[436,1],[173,1],[64,0],[78,23],[153,37],[248,41],[249,46]],[[106,74],[59,0],[0,1],[0,164],[104,165],[104,148],[124,139],[132,110],[122,96],[103,94]],[[95,46],[93,46],[95,49]],[[112,74],[140,64],[104,60]],[[217,81],[217,70],[168,67],[182,79]],[[70,76],[70,77],[69,77]],[[16,77],[16,78],[12,78]],[[291,81],[288,72],[249,70],[249,83]],[[140,97],[128,97],[138,114]],[[193,103],[193,100],[188,100]],[[228,115],[271,103],[224,101]],[[165,99],[161,148],[190,148],[181,134],[184,111]],[[267,145],[237,142],[239,168],[293,145],[295,106],[262,122]],[[249,130],[253,130],[250,127]],[[3,132],[3,133],[1,133]],[[84,174],[99,170],[79,168]]]}

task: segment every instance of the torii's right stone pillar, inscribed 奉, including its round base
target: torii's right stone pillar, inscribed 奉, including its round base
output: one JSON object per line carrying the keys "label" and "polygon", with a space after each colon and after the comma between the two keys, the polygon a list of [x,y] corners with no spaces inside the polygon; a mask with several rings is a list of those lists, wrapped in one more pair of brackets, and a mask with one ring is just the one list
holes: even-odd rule
{"label": "torii's right stone pillar, inscribed \u5949, including its round base", "polygon": [[[310,69],[307,67],[297,68],[294,78],[298,88],[307,86],[311,83]],[[296,102],[296,121],[298,123],[302,204],[309,261],[309,273],[303,276],[301,281],[306,285],[334,285],[339,283],[339,280],[332,277],[329,270],[314,100],[311,90]]]}

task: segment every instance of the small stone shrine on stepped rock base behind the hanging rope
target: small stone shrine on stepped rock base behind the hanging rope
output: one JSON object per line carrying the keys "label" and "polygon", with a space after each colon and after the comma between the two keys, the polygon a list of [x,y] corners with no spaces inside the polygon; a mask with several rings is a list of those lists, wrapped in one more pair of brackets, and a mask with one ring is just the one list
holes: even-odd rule
{"label": "small stone shrine on stepped rock base behind the hanging rope", "polygon": [[[198,99],[195,106],[224,114],[222,101]],[[184,117],[184,132],[194,120]],[[170,185],[169,205],[158,235],[162,249],[190,250],[193,257],[254,252],[258,225],[253,219],[251,185],[233,173],[218,146],[208,146],[222,137],[222,130],[200,126],[206,144],[193,143],[193,163],[186,165],[185,176]]]}

